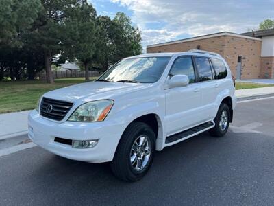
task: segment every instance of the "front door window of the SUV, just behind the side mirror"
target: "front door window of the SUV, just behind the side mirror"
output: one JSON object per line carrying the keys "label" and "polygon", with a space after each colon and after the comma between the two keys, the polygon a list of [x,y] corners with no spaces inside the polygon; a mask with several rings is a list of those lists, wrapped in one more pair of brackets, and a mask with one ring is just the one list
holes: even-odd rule
{"label": "front door window of the SUV, just behind the side mirror", "polygon": [[190,56],[179,57],[175,60],[171,67],[171,71],[169,72],[169,76],[175,76],[177,74],[188,76],[189,83],[195,82],[194,67]]}

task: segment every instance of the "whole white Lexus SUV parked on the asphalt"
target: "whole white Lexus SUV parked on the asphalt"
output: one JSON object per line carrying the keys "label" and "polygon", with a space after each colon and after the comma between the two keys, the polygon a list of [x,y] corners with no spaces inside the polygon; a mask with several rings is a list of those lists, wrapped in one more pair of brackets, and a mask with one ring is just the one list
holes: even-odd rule
{"label": "whole white Lexus SUV parked on the asphalt", "polygon": [[95,82],[42,95],[29,113],[29,138],[69,159],[111,161],[116,176],[137,181],[155,150],[206,130],[225,135],[235,105],[232,73],[219,54],[144,54]]}

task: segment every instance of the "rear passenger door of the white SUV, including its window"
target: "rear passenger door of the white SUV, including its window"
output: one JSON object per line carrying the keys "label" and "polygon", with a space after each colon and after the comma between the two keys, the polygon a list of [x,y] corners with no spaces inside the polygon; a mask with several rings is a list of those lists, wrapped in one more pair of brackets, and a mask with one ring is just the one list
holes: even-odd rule
{"label": "rear passenger door of the white SUV, including its window", "polygon": [[214,117],[214,103],[219,93],[219,83],[214,80],[214,71],[207,57],[195,56],[195,67],[201,88],[201,121],[205,122]]}

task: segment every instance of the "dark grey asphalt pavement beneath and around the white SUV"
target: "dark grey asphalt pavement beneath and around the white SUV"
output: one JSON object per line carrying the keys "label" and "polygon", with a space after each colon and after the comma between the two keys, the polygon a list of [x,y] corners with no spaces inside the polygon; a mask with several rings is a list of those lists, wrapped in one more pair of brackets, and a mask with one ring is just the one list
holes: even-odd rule
{"label": "dark grey asphalt pavement beneath and around the white SUV", "polygon": [[223,138],[208,133],[157,152],[136,183],[108,163],[34,147],[0,157],[0,205],[273,205],[274,98],[240,102]]}

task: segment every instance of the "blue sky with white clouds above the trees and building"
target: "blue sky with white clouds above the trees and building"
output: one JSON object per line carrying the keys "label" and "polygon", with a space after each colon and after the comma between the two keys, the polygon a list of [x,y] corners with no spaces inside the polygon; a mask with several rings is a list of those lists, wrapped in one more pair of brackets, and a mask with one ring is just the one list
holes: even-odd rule
{"label": "blue sky with white clouds above the trees and building", "polygon": [[274,0],[90,0],[97,15],[125,12],[142,32],[142,46],[216,32],[257,30],[274,19]]}

